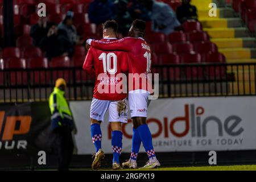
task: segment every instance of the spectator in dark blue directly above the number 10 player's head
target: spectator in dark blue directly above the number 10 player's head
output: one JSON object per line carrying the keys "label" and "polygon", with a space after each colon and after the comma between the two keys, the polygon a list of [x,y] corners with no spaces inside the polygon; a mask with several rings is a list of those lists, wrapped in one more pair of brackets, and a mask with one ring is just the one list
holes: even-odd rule
{"label": "spectator in dark blue directly above the number 10 player's head", "polygon": [[90,22],[101,24],[112,19],[114,15],[113,0],[94,0],[90,3],[88,16]]}

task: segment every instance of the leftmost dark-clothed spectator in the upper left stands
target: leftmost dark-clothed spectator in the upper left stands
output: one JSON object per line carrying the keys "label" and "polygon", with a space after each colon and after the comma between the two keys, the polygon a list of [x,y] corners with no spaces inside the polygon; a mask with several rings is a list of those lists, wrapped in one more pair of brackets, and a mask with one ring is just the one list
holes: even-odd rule
{"label": "leftmost dark-clothed spectator in the upper left stands", "polygon": [[34,40],[34,46],[39,46],[41,40],[48,34],[52,24],[48,22],[47,17],[40,17],[38,23],[34,24],[30,30],[30,36]]}

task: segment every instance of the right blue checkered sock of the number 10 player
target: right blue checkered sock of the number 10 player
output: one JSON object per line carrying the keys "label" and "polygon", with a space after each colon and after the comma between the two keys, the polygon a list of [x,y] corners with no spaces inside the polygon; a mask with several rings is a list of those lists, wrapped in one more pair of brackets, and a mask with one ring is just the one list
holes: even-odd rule
{"label": "right blue checkered sock of the number 10 player", "polygon": [[119,156],[122,151],[122,138],[123,133],[121,131],[112,131],[112,150],[113,150],[113,163],[119,164]]}

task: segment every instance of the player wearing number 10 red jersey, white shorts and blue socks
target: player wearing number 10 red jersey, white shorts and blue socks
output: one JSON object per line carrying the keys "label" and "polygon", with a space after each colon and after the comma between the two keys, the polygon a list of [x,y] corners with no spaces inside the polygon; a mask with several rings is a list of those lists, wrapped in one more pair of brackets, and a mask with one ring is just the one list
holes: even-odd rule
{"label": "player wearing number 10 red jersey, white shorts and blue socks", "polygon": [[[117,37],[118,24],[108,20],[103,24],[102,42],[113,42]],[[118,111],[118,101],[126,104],[127,92],[123,92],[122,78],[128,72],[127,53],[122,51],[101,51],[90,47],[86,55],[83,69],[91,76],[96,76],[92,105],[90,108],[91,135],[96,148],[92,168],[100,167],[104,152],[101,149],[101,122],[109,110],[109,122],[112,129],[113,169],[120,169],[119,156],[122,151],[121,123],[127,123],[127,109]]]}

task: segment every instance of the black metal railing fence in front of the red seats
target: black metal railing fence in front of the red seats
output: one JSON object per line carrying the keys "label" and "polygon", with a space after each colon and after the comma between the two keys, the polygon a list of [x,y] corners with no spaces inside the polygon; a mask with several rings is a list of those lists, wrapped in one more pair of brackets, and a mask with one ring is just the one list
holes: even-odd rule
{"label": "black metal railing fence in front of the red seats", "polygon": [[[159,97],[253,96],[256,63],[154,65],[159,73]],[[94,78],[80,67],[4,69],[0,71],[0,102],[46,101],[55,80],[68,84],[68,100],[89,100]]]}

